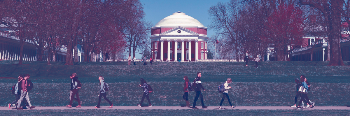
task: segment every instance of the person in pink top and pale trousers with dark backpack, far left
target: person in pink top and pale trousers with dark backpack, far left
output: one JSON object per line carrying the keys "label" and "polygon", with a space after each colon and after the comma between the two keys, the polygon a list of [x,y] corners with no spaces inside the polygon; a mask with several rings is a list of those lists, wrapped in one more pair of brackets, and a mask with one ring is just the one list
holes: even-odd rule
{"label": "person in pink top and pale trousers with dark backpack, far left", "polygon": [[[21,97],[20,99],[18,100],[18,104],[17,105],[17,109],[21,110],[23,108],[20,107],[20,104],[22,103],[23,99],[26,98],[27,100],[27,103],[28,103],[28,106],[30,109],[33,109],[35,108],[35,106],[31,106],[30,104],[30,101],[29,101],[29,95],[28,95],[28,90],[27,88],[30,88],[30,84],[29,82],[27,81],[27,79],[29,79],[30,75],[29,74],[26,74],[24,79],[22,80],[22,84],[21,84],[21,87],[22,87],[22,90],[21,90]],[[30,82],[31,83],[31,82]]]}

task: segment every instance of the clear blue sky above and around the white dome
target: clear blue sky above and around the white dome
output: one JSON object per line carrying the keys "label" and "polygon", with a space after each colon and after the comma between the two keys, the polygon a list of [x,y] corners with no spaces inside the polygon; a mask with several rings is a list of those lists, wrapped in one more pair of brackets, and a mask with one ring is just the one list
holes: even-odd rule
{"label": "clear blue sky above and around the white dome", "polygon": [[[151,21],[153,25],[163,18],[172,15],[177,11],[186,13],[204,26],[210,24],[208,9],[210,6],[216,5],[219,1],[228,2],[229,0],[140,0],[144,4],[146,20]],[[207,36],[214,35],[214,31],[208,29]],[[142,56],[136,55],[139,59]]]}

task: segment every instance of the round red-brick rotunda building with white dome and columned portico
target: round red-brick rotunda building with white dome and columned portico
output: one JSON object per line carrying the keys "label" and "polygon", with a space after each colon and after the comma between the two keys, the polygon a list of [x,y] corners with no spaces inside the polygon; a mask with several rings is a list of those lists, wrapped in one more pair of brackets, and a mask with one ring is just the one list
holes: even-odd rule
{"label": "round red-brick rotunda building with white dome and columned portico", "polygon": [[207,59],[207,29],[180,11],[163,18],[151,28],[153,59],[181,62]]}

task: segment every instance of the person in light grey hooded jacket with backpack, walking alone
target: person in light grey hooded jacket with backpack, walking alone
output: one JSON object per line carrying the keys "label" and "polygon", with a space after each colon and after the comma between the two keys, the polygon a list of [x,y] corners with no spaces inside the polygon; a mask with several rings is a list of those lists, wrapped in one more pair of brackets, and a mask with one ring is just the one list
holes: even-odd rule
{"label": "person in light grey hooded jacket with backpack, walking alone", "polygon": [[110,108],[112,108],[113,103],[106,97],[106,91],[109,91],[108,84],[105,83],[103,76],[99,76],[98,80],[100,81],[100,95],[98,96],[98,104],[95,108],[100,108],[102,96],[110,104]]}

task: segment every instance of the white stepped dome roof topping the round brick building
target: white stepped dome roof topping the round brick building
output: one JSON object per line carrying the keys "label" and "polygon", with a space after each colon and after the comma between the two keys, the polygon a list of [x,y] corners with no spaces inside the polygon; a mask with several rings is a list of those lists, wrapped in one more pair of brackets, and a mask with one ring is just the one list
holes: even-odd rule
{"label": "white stepped dome roof topping the round brick building", "polygon": [[198,20],[196,20],[195,18],[178,11],[176,13],[173,13],[173,15],[163,18],[154,26],[204,26],[204,25]]}

